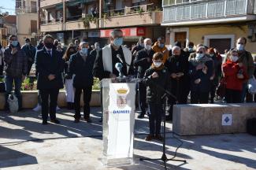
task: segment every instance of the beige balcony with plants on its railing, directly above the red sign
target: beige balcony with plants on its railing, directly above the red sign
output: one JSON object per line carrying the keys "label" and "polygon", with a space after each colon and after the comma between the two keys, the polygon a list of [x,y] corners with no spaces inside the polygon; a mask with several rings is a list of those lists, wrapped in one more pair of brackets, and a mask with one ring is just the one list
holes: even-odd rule
{"label": "beige balcony with plants on its railing, directly above the red sign", "polygon": [[101,28],[161,24],[162,12],[154,4],[106,11],[100,19]]}

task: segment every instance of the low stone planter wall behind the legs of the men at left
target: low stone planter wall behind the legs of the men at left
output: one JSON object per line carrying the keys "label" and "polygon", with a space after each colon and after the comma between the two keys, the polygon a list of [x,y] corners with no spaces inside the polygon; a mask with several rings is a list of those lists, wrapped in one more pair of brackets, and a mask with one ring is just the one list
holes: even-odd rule
{"label": "low stone planter wall behind the legs of the men at left", "polygon": [[[32,109],[37,105],[38,102],[38,91],[21,91],[22,94],[22,106],[24,109]],[[81,95],[81,105],[83,105],[83,95]],[[0,109],[4,109],[5,105],[5,94],[0,94]],[[65,91],[60,91],[58,94],[58,106],[65,107],[67,105],[65,99]],[[92,91],[91,94],[91,106],[98,107],[101,105],[100,92]]]}

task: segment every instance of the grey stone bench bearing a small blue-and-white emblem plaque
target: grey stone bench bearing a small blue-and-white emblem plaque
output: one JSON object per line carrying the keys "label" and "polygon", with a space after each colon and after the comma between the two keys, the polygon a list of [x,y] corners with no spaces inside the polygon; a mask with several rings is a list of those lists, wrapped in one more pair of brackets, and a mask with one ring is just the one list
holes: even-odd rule
{"label": "grey stone bench bearing a small blue-and-white emblem plaque", "polygon": [[177,135],[243,133],[247,119],[256,117],[256,103],[174,105]]}

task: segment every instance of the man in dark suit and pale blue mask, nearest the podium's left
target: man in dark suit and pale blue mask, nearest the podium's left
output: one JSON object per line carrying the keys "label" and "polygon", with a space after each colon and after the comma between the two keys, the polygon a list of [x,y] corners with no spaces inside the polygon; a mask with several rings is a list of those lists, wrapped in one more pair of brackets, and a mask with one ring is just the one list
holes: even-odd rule
{"label": "man in dark suit and pale blue mask, nearest the podium's left", "polygon": [[79,51],[73,54],[69,61],[69,73],[75,75],[73,87],[75,87],[75,123],[80,122],[80,97],[83,90],[83,119],[91,123],[90,102],[93,85],[92,68],[95,63],[96,50],[89,50],[88,42],[80,42]]}

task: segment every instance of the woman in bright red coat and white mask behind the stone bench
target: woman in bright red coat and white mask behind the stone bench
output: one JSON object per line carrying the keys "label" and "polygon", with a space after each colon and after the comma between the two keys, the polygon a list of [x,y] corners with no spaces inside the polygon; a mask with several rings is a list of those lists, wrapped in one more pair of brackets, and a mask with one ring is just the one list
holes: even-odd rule
{"label": "woman in bright red coat and white mask behind the stone bench", "polygon": [[227,54],[227,61],[222,65],[224,81],[226,83],[225,98],[227,103],[241,102],[243,82],[248,76],[243,63],[238,62],[239,55],[236,50],[230,50]]}

